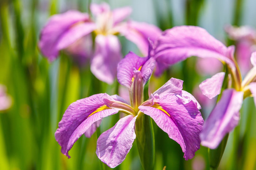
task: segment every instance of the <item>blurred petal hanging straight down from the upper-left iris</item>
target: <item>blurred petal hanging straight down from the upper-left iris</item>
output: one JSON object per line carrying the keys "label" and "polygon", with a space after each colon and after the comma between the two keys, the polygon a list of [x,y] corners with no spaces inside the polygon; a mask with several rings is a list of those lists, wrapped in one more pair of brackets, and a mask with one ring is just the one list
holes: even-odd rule
{"label": "blurred petal hanging straight down from the upper-left iris", "polygon": [[99,80],[112,84],[117,75],[117,65],[121,60],[121,45],[114,35],[97,35],[95,54],[91,60],[91,72]]}

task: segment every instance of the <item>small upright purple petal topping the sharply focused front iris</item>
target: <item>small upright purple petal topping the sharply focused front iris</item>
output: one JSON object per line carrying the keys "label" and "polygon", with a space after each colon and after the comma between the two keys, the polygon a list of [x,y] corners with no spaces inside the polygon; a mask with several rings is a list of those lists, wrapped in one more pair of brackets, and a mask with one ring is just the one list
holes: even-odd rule
{"label": "small upright purple petal topping the sharply focused front iris", "polygon": [[146,84],[155,68],[155,59],[139,57],[133,52],[129,52],[118,64],[118,81],[121,85],[131,88],[134,77],[134,69],[141,71],[143,83]]}

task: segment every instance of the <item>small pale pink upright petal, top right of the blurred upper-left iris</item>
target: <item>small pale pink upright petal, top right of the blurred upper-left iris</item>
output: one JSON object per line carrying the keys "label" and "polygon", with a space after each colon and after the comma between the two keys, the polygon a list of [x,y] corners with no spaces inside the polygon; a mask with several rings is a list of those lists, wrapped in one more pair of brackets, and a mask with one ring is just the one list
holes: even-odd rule
{"label": "small pale pink upright petal, top right of the blurred upper-left iris", "polygon": [[132,8],[130,7],[116,8],[112,10],[114,25],[123,21],[126,17],[128,17],[131,14],[131,12],[132,12]]}

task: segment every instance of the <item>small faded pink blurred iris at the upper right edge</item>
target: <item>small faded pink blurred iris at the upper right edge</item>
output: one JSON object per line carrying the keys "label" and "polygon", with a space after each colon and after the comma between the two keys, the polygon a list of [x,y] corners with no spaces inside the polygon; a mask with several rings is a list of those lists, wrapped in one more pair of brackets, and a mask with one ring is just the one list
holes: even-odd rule
{"label": "small faded pink blurred iris at the upper right edge", "polygon": [[231,40],[236,41],[236,59],[242,75],[245,75],[252,68],[250,57],[256,51],[256,30],[249,26],[226,26],[225,31]]}

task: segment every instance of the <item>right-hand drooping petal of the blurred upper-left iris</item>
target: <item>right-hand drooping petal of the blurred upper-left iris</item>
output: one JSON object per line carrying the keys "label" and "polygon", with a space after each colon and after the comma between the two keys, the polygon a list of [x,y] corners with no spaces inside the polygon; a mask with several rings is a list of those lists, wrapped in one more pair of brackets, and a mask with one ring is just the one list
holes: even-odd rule
{"label": "right-hand drooping petal of the blurred upper-left iris", "polygon": [[135,43],[144,56],[148,53],[148,39],[155,42],[162,33],[157,26],[135,21],[129,21],[125,27],[120,28],[119,32]]}

